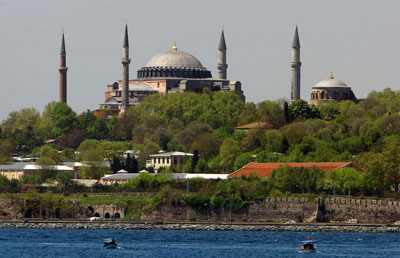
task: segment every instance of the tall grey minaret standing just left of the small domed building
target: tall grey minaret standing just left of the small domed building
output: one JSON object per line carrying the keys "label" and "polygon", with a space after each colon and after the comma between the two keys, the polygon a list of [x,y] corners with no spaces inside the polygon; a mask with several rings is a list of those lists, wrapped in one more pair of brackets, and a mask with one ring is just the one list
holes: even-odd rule
{"label": "tall grey minaret standing just left of the small domed building", "polygon": [[292,62],[290,63],[292,70],[292,81],[291,81],[291,94],[290,101],[296,101],[300,99],[300,40],[299,32],[297,30],[294,32],[294,39],[292,44]]}

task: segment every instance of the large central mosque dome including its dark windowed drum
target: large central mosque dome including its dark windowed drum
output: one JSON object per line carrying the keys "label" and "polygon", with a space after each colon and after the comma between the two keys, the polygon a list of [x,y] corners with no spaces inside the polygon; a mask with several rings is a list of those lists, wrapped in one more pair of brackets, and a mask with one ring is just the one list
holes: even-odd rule
{"label": "large central mosque dome including its dark windowed drum", "polygon": [[170,51],[153,56],[137,72],[138,78],[211,78],[208,71],[200,61],[191,54],[179,51],[175,45]]}

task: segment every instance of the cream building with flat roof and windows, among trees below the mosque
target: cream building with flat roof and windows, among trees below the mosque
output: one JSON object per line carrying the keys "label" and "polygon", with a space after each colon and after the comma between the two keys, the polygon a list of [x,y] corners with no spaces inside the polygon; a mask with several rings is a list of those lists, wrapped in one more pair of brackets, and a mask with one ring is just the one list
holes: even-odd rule
{"label": "cream building with flat roof and windows, among trees below the mosque", "polygon": [[182,169],[183,165],[191,157],[193,157],[192,153],[185,153],[180,151],[161,152],[150,155],[150,159],[146,161],[146,167],[152,167],[156,172],[162,167]]}

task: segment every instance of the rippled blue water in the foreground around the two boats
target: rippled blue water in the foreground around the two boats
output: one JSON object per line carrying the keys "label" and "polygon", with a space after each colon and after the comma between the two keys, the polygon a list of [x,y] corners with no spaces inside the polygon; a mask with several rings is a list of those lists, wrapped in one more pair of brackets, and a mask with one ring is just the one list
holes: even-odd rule
{"label": "rippled blue water in the foreground around the two boats", "polygon": [[[307,236],[316,253],[299,252]],[[0,229],[0,257],[400,257],[399,234]],[[119,248],[101,250],[102,238]]]}

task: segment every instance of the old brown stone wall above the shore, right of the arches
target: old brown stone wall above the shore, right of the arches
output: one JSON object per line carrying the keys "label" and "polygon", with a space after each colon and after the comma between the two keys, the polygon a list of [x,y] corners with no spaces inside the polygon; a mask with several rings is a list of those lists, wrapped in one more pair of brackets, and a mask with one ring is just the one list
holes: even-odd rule
{"label": "old brown stone wall above the shore, right of the arches", "polygon": [[[327,219],[346,222],[357,219],[358,223],[393,223],[400,221],[398,201],[334,198],[325,200]],[[151,213],[143,214],[142,220],[150,221],[209,221],[209,222],[315,222],[318,200],[305,198],[270,197],[252,202],[237,212],[229,209],[196,212],[186,204],[160,205]],[[232,218],[232,219],[231,219]]]}

